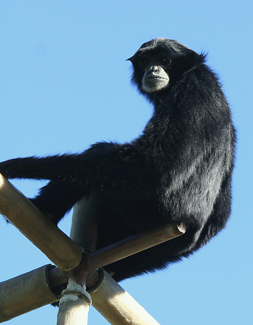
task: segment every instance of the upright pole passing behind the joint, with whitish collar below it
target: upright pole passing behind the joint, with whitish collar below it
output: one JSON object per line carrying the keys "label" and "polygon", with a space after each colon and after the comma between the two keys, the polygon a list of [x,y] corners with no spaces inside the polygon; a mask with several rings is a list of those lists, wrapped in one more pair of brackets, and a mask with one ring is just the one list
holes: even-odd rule
{"label": "upright pole passing behind the joint, with whitish collar below it", "polygon": [[[97,241],[96,197],[91,195],[75,204],[70,238],[85,250],[95,250]],[[90,294],[86,291],[87,272],[82,265],[69,272],[67,288],[59,302],[57,325],[87,325]]]}

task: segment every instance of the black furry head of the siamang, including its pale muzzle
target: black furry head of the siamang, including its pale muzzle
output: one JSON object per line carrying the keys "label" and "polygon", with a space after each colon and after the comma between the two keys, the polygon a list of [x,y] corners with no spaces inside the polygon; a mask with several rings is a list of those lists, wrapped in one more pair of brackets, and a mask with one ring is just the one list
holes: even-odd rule
{"label": "black furry head of the siamang, including its pale muzzle", "polygon": [[128,60],[133,65],[132,83],[153,101],[155,94],[168,94],[183,75],[204,62],[205,56],[177,41],[160,38],[142,44]]}

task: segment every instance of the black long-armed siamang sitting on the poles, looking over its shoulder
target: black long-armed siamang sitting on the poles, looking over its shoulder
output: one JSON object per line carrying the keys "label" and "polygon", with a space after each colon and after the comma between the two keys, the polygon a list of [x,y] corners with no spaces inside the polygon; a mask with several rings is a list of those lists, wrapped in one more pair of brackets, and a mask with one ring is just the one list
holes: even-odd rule
{"label": "black long-armed siamang sitting on the poles, looking over its shoulder", "polygon": [[185,225],[185,235],[105,266],[117,281],[163,269],[225,227],[236,142],[228,102],[205,55],[160,38],[128,60],[132,83],[154,104],[138,138],[0,164],[9,179],[50,180],[31,201],[55,224],[82,197],[95,195],[97,248],[167,223]]}

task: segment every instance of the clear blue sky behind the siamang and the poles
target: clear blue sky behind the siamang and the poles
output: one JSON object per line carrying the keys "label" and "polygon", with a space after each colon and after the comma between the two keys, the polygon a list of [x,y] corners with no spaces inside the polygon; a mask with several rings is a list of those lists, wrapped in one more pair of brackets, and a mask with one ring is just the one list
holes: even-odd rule
{"label": "clear blue sky behind the siamang and the poles", "polygon": [[[152,38],[208,52],[220,75],[238,130],[227,228],[166,271],[121,283],[161,325],[252,323],[252,21],[252,0],[0,2],[1,161],[138,136],[152,108],[126,59]],[[28,197],[42,185],[13,183]],[[1,219],[0,245],[0,281],[50,263]],[[55,324],[56,314],[45,306],[8,324]],[[88,323],[107,321],[91,308]]]}

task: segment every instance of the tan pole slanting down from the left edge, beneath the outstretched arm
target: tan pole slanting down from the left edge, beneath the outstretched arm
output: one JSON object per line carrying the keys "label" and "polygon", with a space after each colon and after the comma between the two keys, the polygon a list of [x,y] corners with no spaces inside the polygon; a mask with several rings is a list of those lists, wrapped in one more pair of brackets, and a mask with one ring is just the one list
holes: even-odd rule
{"label": "tan pole slanting down from the left edge, beneath the outstretched arm", "polygon": [[74,269],[82,249],[0,174],[0,213],[62,270]]}

